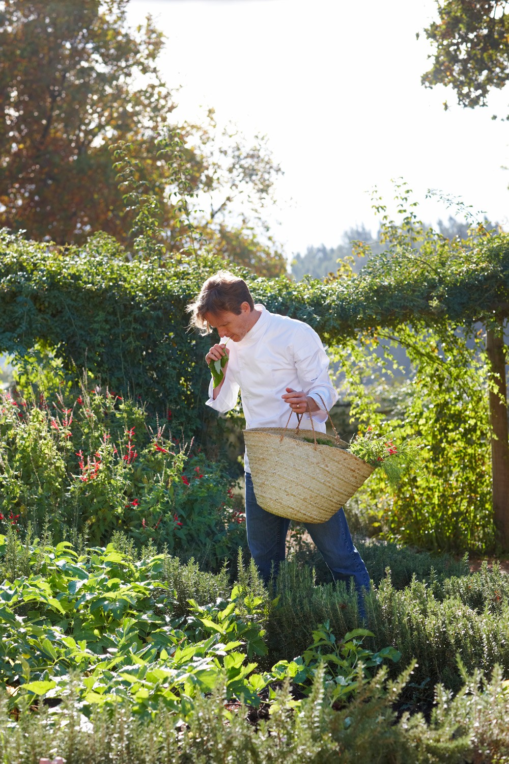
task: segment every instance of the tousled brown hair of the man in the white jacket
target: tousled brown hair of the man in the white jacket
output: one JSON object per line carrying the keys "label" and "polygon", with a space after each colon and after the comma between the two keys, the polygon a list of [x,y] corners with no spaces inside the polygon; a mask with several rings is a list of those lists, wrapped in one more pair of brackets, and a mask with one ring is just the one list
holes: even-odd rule
{"label": "tousled brown hair of the man in the white jacket", "polygon": [[209,334],[211,328],[205,320],[206,313],[226,310],[240,316],[242,303],[247,303],[254,310],[254,300],[246,282],[230,274],[229,270],[219,270],[205,281],[198,297],[186,307],[187,312],[191,313],[189,323],[201,334]]}

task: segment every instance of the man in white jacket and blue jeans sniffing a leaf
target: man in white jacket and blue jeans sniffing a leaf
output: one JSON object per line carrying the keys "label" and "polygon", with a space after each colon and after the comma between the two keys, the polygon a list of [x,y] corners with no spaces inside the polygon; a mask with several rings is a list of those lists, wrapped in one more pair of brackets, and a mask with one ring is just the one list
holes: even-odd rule
{"label": "man in white jacket and blue jeans sniffing a leaf", "polygon": [[[214,388],[211,381],[208,406],[225,413],[237,404],[240,390],[248,428],[285,427],[288,414],[294,412],[302,416],[301,429],[311,429],[311,413],[314,429],[325,432],[324,405],[330,410],[337,392],[330,381],[327,354],[311,326],[255,305],[246,282],[226,270],[205,281],[188,312],[202,334],[212,329],[219,334],[220,342],[210,348],[205,361],[224,355],[228,359],[221,384]],[[267,582],[285,559],[290,520],[257,503],[247,455],[245,469],[247,542]],[[334,580],[350,583],[353,578],[359,593],[363,587],[369,589],[368,571],[353,545],[342,508],[326,523],[305,523],[305,527]]]}

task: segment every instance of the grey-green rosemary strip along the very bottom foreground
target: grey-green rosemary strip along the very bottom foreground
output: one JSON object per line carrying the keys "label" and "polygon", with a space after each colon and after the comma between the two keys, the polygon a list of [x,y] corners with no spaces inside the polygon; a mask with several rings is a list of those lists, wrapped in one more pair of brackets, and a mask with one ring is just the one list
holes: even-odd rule
{"label": "grey-green rosemary strip along the very bottom foreground", "polygon": [[111,715],[85,720],[72,691],[60,707],[22,709],[14,720],[0,701],[0,756],[10,764],[33,764],[40,756],[63,756],[67,764],[484,764],[509,756],[509,693],[499,669],[491,678],[465,675],[452,698],[440,685],[430,722],[421,714],[399,719],[393,709],[409,669],[386,683],[382,675],[363,686],[348,706],[335,711],[325,701],[317,675],[311,696],[292,711],[288,685],[268,719],[256,725],[246,708],[228,707],[218,688],[199,698],[188,724],[177,726],[163,708],[140,721],[119,703]]}

